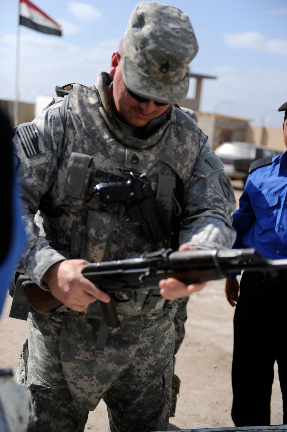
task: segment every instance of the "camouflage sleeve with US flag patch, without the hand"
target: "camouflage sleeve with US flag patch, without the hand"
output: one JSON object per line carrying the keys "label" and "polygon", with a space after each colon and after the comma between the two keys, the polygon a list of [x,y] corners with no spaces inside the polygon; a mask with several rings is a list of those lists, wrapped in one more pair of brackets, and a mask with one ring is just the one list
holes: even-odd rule
{"label": "camouflage sleeve with US flag patch, without the hand", "polygon": [[34,217],[40,199],[53,184],[63,135],[58,103],[44,110],[32,122],[19,125],[13,139],[17,182],[21,186],[22,219],[27,234],[27,243],[22,253],[23,267],[19,270],[43,289],[47,289],[42,281],[46,270],[65,258],[51,248],[44,237],[39,236]]}

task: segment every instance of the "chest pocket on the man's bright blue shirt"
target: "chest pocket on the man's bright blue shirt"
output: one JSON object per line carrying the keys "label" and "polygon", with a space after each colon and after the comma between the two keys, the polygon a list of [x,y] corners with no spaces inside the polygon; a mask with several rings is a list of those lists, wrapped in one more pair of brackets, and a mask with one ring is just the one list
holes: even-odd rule
{"label": "chest pocket on the man's bright blue shirt", "polygon": [[258,195],[254,197],[254,213],[256,220],[262,227],[276,225],[279,207],[278,195]]}

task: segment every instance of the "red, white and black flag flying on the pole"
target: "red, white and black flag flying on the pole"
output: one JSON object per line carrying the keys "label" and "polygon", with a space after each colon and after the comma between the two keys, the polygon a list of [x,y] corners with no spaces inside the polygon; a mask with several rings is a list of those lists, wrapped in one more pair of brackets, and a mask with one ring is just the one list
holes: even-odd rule
{"label": "red, white and black flag flying on the pole", "polygon": [[61,26],[29,0],[20,0],[20,25],[37,32],[62,36]]}

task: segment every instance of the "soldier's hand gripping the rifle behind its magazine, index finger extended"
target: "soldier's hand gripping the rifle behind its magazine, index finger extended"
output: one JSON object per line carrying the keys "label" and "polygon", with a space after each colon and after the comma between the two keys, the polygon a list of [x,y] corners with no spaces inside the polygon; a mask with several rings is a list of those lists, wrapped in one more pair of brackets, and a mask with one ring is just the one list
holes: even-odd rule
{"label": "soldier's hand gripping the rifle behind its magazine, index finger extended", "polygon": [[83,311],[95,300],[110,302],[110,296],[82,275],[86,260],[65,260],[52,265],[44,274],[54,297],[74,311]]}

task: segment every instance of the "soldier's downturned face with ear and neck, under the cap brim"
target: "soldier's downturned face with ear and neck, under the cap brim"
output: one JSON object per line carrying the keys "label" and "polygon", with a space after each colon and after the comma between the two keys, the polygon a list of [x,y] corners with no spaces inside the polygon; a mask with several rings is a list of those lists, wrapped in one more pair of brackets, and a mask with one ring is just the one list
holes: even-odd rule
{"label": "soldier's downturned face with ear and neck, under the cap brim", "polygon": [[110,76],[114,78],[110,92],[111,104],[114,114],[123,123],[142,127],[169,108],[170,104],[158,106],[154,101],[139,102],[129,94],[123,81],[122,61],[117,51],[112,55]]}

